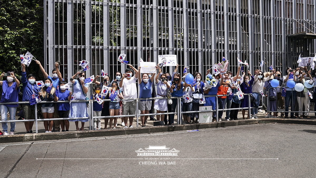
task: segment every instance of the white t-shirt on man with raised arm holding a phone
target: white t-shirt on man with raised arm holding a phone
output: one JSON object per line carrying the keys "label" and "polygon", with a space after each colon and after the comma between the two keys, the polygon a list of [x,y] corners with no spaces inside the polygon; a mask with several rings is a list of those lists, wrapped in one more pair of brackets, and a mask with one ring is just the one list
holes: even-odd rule
{"label": "white t-shirt on man with raised arm holding a phone", "polygon": [[[136,80],[137,78],[133,76],[129,80],[125,78],[121,81],[124,99],[137,98]],[[128,101],[128,100],[125,100],[125,101]],[[133,101],[133,100],[130,100],[130,101]]]}

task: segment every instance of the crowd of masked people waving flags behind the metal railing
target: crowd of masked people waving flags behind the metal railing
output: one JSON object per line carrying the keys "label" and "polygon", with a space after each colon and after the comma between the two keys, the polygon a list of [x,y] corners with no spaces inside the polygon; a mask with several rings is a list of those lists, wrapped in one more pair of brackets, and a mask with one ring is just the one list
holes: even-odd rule
{"label": "crowd of masked people waving flags behind the metal railing", "polygon": [[[92,113],[94,117],[118,116],[110,119],[105,118],[105,129],[116,129],[118,118],[121,119],[121,125],[124,128],[132,128],[134,117],[120,117],[120,115],[135,115],[136,109],[140,110],[141,114],[154,113],[154,109],[156,113],[159,114],[176,112],[178,100],[170,99],[170,101],[167,102],[166,97],[168,94],[172,97],[190,96],[189,98],[191,99],[183,98],[181,100],[181,106],[179,107],[181,107],[181,110],[184,112],[198,111],[199,106],[212,106],[212,109],[215,110],[217,105],[216,97],[218,97],[218,109],[231,110],[226,110],[225,116],[223,116],[223,110],[218,111],[218,116],[216,116],[216,112],[213,112],[213,121],[216,121],[216,118],[218,118],[218,121],[241,119],[237,117],[239,108],[243,108],[241,111],[242,119],[249,119],[249,113],[246,115],[246,111],[249,112],[248,109],[246,109],[249,107],[248,97],[250,97],[251,101],[250,107],[253,107],[250,111],[250,116],[251,118],[258,118],[258,112],[263,112],[259,109],[259,106],[263,106],[263,110],[267,111],[261,99],[264,95],[269,98],[268,106],[270,113],[266,112],[266,114],[269,114],[266,117],[278,117],[277,108],[280,108],[285,109],[285,112],[280,114],[281,118],[310,118],[308,112],[303,113],[302,111],[309,111],[309,96],[311,95],[310,93],[313,93],[312,88],[304,87],[304,90],[297,92],[293,87],[288,86],[288,81],[293,80],[295,83],[302,84],[307,80],[314,81],[316,72],[314,70],[307,70],[307,67],[295,69],[287,67],[286,73],[283,76],[281,75],[281,71],[276,71],[274,68],[272,68],[270,72],[265,73],[259,69],[255,69],[252,75],[249,70],[246,71],[247,73],[241,71],[241,67],[239,66],[234,76],[229,70],[225,73],[213,74],[212,76],[216,79],[217,83],[212,87],[207,87],[202,74],[198,72],[193,73],[193,83],[187,84],[185,82],[185,76],[181,76],[180,73],[177,72],[178,65],[170,75],[168,72],[162,73],[158,65],[156,66],[156,73],[142,73],[142,67],[135,68],[131,64],[128,64],[129,68],[126,68],[125,73],[122,74],[117,71],[111,82],[110,76],[105,75],[101,77],[97,75],[93,79],[93,94],[88,97],[88,87],[91,87],[91,85],[84,82],[87,78],[85,72],[77,72],[70,77],[70,82],[73,84],[73,92],[71,92],[70,88],[67,87],[68,82],[64,81],[58,69],[58,62],[55,62],[52,77],[46,73],[40,61],[36,60],[36,63],[39,65],[45,78],[43,80],[44,87],[38,87],[35,83],[36,76],[34,74],[27,75],[25,65],[21,64],[22,101],[30,102],[21,105],[25,120],[35,118],[35,112],[37,111],[35,111],[35,105],[32,105],[31,101],[37,99],[38,96],[41,101],[71,101],[74,97],[73,93],[75,93],[75,100],[94,100]],[[211,70],[212,69],[207,70],[206,75],[210,74]],[[242,75],[240,75],[240,73]],[[185,75],[185,73],[183,75]],[[5,76],[6,80],[2,80]],[[99,79],[101,79],[101,81],[98,81]],[[272,87],[272,79],[278,80],[278,86],[280,87]],[[15,73],[12,71],[2,73],[0,80],[0,86],[3,88],[0,102],[18,102],[20,80],[15,77]],[[139,96],[137,94],[137,80]],[[109,87],[109,92],[106,96],[101,95],[103,86]],[[244,95],[243,99],[240,99],[237,95],[233,95],[238,92],[239,87],[243,94],[249,95]],[[102,103],[95,101],[97,98],[109,99],[112,93],[117,93],[117,95],[115,95],[115,98],[111,99],[111,101],[107,100]],[[211,97],[205,97],[205,104],[201,104],[201,95],[211,95]],[[152,97],[164,99],[148,99]],[[139,98],[138,108],[136,108],[136,98]],[[316,98],[316,96],[314,96],[314,98]],[[83,130],[85,122],[89,121],[87,118],[89,116],[86,102],[39,103],[38,105],[40,105],[40,111],[44,119],[69,118],[69,120],[44,121],[46,132],[68,131],[70,122],[75,122],[76,130]],[[290,115],[289,106],[291,106]],[[0,105],[0,107],[2,121],[7,120],[8,112],[10,114],[10,120],[15,120],[18,104],[4,104]],[[86,119],[80,119],[84,117]],[[183,118],[184,124],[198,123],[199,120],[198,113],[185,113],[181,117]],[[148,116],[140,117],[142,127],[146,126],[147,119]],[[173,125],[174,114],[156,115],[156,119],[152,116],[150,120],[159,121],[164,125]],[[81,127],[79,127],[79,121],[81,122]],[[94,130],[101,129],[100,118],[94,118],[93,123]],[[27,133],[33,133],[33,122],[25,121],[24,124]],[[10,122],[10,126],[10,135],[13,135],[15,122]],[[7,123],[2,123],[2,128],[3,134],[9,135]]]}

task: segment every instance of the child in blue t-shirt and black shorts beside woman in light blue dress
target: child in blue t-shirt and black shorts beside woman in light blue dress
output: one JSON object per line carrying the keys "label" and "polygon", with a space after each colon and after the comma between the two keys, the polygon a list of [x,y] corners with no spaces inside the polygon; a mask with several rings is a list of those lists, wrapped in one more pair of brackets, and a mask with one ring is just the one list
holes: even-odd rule
{"label": "child in blue t-shirt and black shorts beside woman in light blue dress", "polygon": [[[65,84],[67,84],[67,82],[65,81],[59,82],[60,92],[58,93],[58,96],[55,95],[54,101],[70,101],[72,93],[69,90],[67,90]],[[60,118],[68,118],[70,105],[69,103],[57,103],[57,110]],[[69,131],[69,121],[60,120],[60,127],[62,129],[62,132]]]}

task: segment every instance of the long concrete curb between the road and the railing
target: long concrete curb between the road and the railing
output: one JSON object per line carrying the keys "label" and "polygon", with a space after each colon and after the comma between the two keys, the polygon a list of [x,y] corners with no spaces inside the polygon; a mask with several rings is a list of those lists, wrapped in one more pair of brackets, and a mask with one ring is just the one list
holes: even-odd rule
{"label": "long concrete curb between the road and the railing", "polygon": [[32,134],[16,134],[0,136],[0,143],[11,142],[29,142],[39,140],[59,140],[71,138],[87,138],[87,137],[107,137],[115,135],[131,135],[157,132],[172,132],[178,130],[195,130],[208,129],[218,127],[231,127],[238,125],[265,124],[265,123],[281,123],[281,124],[307,124],[316,125],[316,120],[308,119],[283,119],[283,118],[266,118],[266,119],[243,119],[224,122],[211,122],[199,124],[181,124],[168,126],[148,126],[127,129],[102,129],[102,130],[84,130],[69,132],[52,132],[52,133],[32,133]]}

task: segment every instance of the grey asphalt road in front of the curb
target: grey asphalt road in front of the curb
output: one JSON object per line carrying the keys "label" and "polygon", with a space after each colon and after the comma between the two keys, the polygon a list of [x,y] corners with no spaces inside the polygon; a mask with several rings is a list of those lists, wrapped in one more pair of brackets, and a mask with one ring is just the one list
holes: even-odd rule
{"label": "grey asphalt road in front of the curb", "polygon": [[[316,177],[315,136],[314,125],[257,124],[2,143],[0,177]],[[149,145],[179,153],[137,156]]]}

